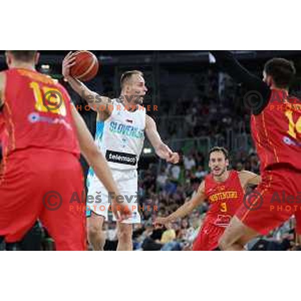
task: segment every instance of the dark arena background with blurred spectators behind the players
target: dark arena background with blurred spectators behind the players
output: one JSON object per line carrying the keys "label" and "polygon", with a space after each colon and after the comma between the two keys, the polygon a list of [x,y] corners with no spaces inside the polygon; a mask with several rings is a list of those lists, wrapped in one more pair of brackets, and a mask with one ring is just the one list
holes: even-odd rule
{"label": "dark arena background with blurred spectators behind the players", "polygon": [[[38,70],[59,80],[70,92],[71,98],[84,117],[90,131],[95,133],[93,111],[64,82],[61,64],[67,51],[41,51]],[[259,162],[249,130],[250,112],[243,106],[246,90],[221,73],[214,60],[205,51],[93,51],[101,68],[87,86],[109,97],[119,96],[120,75],[127,70],[144,73],[147,113],[158,125],[164,141],[182,154],[179,165],[170,166],[161,161],[145,141],[139,161],[139,204],[145,206],[143,222],[135,226],[133,240],[136,250],[185,250],[194,240],[207,205],[190,217],[173,225],[172,230],[154,229],[158,214],[166,216],[181,206],[195,193],[208,173],[208,150],[215,145],[225,146],[231,154],[231,166],[236,170],[259,173]],[[266,60],[285,57],[294,62],[297,77],[292,91],[300,91],[301,51],[236,51],[236,57],[248,70],[261,76]],[[6,68],[4,51],[0,52],[0,70]],[[154,106],[157,110],[154,110]],[[87,166],[82,161],[85,173]],[[152,209],[158,206],[158,212]],[[252,250],[287,250],[293,247],[294,221],[257,239],[248,245]],[[106,250],[117,245],[113,223],[106,224]],[[35,229],[32,235],[35,236]],[[37,229],[39,232],[39,229]],[[52,239],[43,232],[42,249],[53,249]]]}

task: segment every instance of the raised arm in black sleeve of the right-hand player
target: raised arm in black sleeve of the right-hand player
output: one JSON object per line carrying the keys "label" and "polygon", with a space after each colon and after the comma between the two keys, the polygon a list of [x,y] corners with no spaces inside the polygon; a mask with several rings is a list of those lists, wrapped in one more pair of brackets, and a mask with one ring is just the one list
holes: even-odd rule
{"label": "raised arm in black sleeve of the right-hand player", "polygon": [[[237,83],[243,84],[250,91],[259,93],[261,97],[252,97],[248,101],[248,106],[254,110],[254,114],[259,114],[270,98],[271,90],[268,85],[244,68],[235,59],[232,52],[226,50],[210,50],[210,52],[215,57],[216,63],[222,71],[229,74]],[[256,93],[252,95],[256,96]]]}

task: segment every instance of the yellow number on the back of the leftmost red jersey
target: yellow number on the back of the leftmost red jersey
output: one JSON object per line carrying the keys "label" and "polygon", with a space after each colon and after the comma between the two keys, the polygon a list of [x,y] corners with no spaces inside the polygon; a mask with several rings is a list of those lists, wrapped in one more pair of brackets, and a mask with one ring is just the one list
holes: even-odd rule
{"label": "yellow number on the back of the leftmost red jersey", "polygon": [[[66,107],[62,93],[56,89],[47,86],[40,88],[37,82],[31,82],[30,87],[34,91],[35,100],[36,100],[36,110],[39,112],[51,112],[54,114],[59,114],[66,116]],[[51,93],[53,91],[53,93]],[[43,93],[43,94],[42,94]],[[46,97],[48,95],[49,97]],[[43,97],[47,98],[48,106],[44,105]]]}

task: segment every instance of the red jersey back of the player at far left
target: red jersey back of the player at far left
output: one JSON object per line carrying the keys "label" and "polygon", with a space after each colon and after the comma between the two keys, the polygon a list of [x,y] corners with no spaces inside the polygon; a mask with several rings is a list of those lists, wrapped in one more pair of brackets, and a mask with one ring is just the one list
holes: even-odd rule
{"label": "red jersey back of the player at far left", "polygon": [[63,86],[29,69],[6,71],[3,118],[5,155],[41,147],[79,156],[70,97]]}

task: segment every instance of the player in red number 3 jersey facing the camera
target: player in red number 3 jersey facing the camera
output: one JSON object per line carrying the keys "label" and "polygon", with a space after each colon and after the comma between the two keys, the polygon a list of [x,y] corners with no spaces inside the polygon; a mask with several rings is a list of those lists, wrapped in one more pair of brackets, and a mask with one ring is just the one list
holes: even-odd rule
{"label": "player in red number 3 jersey facing the camera", "polygon": [[197,194],[177,211],[165,218],[157,218],[155,224],[166,225],[189,215],[206,199],[210,207],[204,224],[193,244],[194,251],[217,249],[219,238],[241,206],[244,190],[258,185],[260,177],[248,171],[228,171],[229,156],[223,147],[213,147],[209,152],[211,174],[201,183]]}

